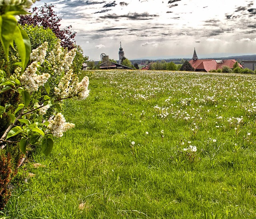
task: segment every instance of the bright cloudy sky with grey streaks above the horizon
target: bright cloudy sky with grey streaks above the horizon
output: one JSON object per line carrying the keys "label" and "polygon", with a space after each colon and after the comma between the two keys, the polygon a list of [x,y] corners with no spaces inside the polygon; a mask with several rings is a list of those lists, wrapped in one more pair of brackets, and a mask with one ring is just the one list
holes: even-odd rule
{"label": "bright cloudy sky with grey streaks above the horizon", "polygon": [[92,60],[256,54],[256,0],[41,0]]}

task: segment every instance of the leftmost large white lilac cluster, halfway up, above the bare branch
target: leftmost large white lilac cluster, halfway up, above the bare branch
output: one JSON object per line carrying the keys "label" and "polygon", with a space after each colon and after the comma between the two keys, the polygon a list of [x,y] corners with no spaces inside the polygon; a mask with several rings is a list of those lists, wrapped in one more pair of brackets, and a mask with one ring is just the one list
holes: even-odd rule
{"label": "leftmost large white lilac cluster, halfway up, above the bare branch", "polygon": [[38,91],[38,88],[43,86],[50,78],[50,74],[48,73],[42,75],[36,74],[37,67],[37,62],[32,62],[20,76],[20,82],[28,92]]}

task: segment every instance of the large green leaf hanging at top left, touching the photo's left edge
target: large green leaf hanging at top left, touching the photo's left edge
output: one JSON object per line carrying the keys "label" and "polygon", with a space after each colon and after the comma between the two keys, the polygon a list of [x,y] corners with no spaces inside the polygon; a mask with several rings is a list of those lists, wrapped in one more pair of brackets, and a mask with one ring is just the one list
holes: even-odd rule
{"label": "large green leaf hanging at top left, touching the photo's left edge", "polygon": [[2,24],[0,40],[2,42],[2,46],[4,47],[6,58],[8,58],[9,46],[14,40],[14,32],[16,30],[17,20],[13,15],[10,14],[3,14],[1,20],[2,22],[0,23]]}

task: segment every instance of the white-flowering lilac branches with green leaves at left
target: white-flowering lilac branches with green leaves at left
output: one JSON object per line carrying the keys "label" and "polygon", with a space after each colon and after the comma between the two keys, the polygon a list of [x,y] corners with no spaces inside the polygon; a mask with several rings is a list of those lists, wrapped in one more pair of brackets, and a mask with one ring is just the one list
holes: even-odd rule
{"label": "white-flowering lilac branches with green leaves at left", "polygon": [[[15,74],[5,78],[2,71],[0,95],[5,92],[19,94],[23,103],[13,111],[8,111],[8,105],[0,106],[0,116],[7,113],[11,118],[11,124],[0,138],[1,148],[5,147],[5,143],[12,142],[9,138],[19,135],[20,149],[23,153],[26,153],[28,143],[33,145],[39,142],[43,152],[48,155],[53,147],[52,138],[62,137],[65,131],[74,127],[74,124],[66,122],[60,113],[61,101],[68,98],[84,100],[89,95],[88,77],[79,82],[78,75],[74,75],[70,69],[76,51],[73,49],[68,52],[58,41],[47,57],[47,46],[45,42],[32,51],[31,64],[24,72],[22,68],[17,67]],[[39,98],[39,102],[33,103],[31,97],[37,92],[46,94]],[[52,115],[52,119],[44,118],[50,107],[58,113]],[[37,114],[41,115],[44,121],[37,119]]]}

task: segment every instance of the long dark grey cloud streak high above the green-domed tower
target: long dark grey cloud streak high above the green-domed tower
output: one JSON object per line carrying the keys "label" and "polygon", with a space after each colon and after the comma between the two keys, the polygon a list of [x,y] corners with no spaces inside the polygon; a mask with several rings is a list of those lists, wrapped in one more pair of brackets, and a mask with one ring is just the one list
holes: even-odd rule
{"label": "long dark grey cloud streak high above the green-domed tower", "polygon": [[158,17],[156,14],[148,14],[147,12],[144,13],[128,13],[124,15],[117,15],[117,14],[107,14],[105,16],[101,16],[102,19],[115,19],[118,20],[120,18],[127,18],[129,20],[152,20],[154,17]]}

